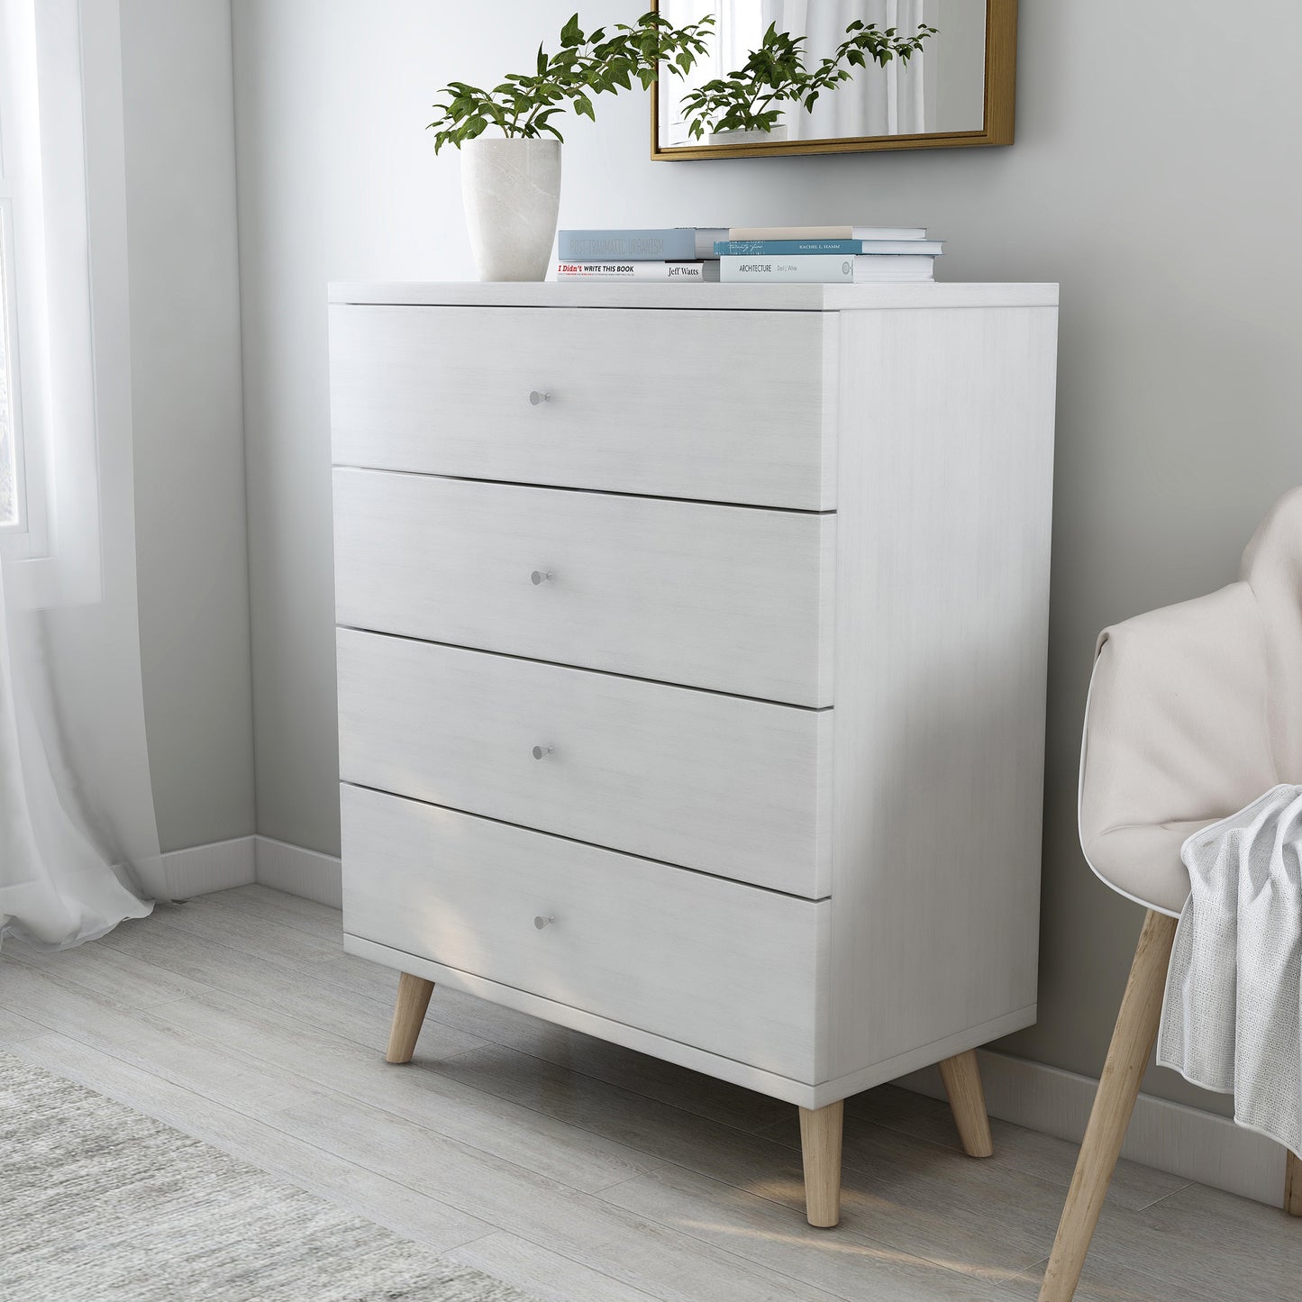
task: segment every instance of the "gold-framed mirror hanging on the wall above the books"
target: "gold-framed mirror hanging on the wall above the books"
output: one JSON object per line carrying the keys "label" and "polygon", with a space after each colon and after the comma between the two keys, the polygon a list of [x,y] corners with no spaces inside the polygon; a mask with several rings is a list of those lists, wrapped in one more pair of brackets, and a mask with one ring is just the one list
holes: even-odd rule
{"label": "gold-framed mirror hanging on the wall above the books", "polygon": [[[652,159],[1013,143],[1017,0],[654,0],[652,8],[676,26],[715,18],[708,56],[686,78],[667,74],[651,86]],[[798,46],[809,72],[828,66],[855,34],[874,44],[863,60],[842,55],[849,76],[823,89],[812,108],[776,100],[767,130],[715,129],[721,83],[771,33],[788,51]],[[879,62],[874,51],[888,34],[902,53]],[[685,103],[691,95],[694,108]]]}

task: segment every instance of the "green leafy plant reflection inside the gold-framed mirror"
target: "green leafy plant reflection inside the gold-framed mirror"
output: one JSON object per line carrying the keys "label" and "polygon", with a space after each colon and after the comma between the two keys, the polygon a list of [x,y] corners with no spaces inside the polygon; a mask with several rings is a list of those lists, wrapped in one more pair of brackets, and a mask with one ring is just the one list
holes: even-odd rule
{"label": "green leafy plant reflection inside the gold-framed mirror", "polygon": [[783,105],[811,109],[819,95],[850,81],[853,69],[867,66],[870,60],[883,68],[892,59],[907,62],[937,30],[921,23],[917,35],[901,36],[894,27],[857,18],[845,29],[836,52],[810,69],[805,65],[805,38],[769,25],[759,49],[753,49],[741,68],[682,96],[687,133],[700,139],[707,132],[771,132]]}

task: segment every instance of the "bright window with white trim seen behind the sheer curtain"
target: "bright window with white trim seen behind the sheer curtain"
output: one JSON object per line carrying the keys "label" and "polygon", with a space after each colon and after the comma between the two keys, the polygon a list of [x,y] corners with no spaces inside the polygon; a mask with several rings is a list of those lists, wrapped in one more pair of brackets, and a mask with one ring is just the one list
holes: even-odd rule
{"label": "bright window with white trim seen behind the sheer curtain", "polygon": [[0,0],[0,557],[34,608],[102,599],[129,482],[121,122],[117,4]]}

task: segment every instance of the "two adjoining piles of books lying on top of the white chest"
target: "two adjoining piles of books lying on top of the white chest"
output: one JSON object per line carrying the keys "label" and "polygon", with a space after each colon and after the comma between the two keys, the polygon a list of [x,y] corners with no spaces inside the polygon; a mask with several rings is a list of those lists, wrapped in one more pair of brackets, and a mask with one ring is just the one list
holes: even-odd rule
{"label": "two adjoining piles of books lying on top of the white chest", "polygon": [[561,230],[557,280],[865,284],[932,280],[922,227],[671,227]]}

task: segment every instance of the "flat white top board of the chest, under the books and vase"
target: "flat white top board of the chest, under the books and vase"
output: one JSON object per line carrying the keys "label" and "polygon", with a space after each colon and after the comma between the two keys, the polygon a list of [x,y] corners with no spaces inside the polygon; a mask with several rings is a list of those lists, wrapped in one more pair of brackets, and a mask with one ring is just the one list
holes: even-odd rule
{"label": "flat white top board of the chest, under the books and vase", "polygon": [[1052,284],[924,281],[875,285],[671,285],[625,281],[335,281],[332,303],[408,307],[690,307],[853,311],[906,307],[1053,307]]}

